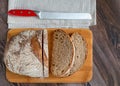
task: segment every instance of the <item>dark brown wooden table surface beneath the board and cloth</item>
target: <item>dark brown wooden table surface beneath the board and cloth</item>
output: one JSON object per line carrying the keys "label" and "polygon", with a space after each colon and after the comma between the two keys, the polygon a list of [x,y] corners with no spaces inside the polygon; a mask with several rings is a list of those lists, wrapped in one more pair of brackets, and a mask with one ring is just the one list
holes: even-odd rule
{"label": "dark brown wooden table surface beneath the board and cloth", "polygon": [[3,53],[8,0],[0,0],[0,86],[120,86],[120,0],[97,0],[93,32],[93,79],[85,84],[20,84],[6,80]]}

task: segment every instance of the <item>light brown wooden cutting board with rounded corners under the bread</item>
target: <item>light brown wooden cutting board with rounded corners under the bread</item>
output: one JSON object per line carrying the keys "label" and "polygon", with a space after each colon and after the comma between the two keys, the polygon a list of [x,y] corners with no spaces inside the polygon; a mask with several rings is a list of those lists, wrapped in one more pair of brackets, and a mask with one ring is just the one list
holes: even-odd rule
{"label": "light brown wooden cutting board with rounded corners under the bread", "polygon": [[[57,28],[56,28],[57,29]],[[8,31],[7,35],[7,41],[21,31],[24,31],[26,29],[11,29]],[[34,29],[34,30],[40,30],[40,29]],[[52,34],[55,29],[48,29],[48,46],[49,46],[49,58],[51,58],[51,48],[52,48]],[[87,55],[86,55],[86,61],[82,68],[72,74],[71,76],[65,77],[65,78],[57,78],[54,77],[51,73],[48,78],[31,78],[27,76],[18,75],[15,73],[10,72],[8,69],[6,69],[6,77],[8,81],[10,82],[16,82],[16,83],[85,83],[89,82],[92,79],[92,68],[93,68],[93,61],[92,61],[92,32],[90,30],[86,29],[63,29],[68,34],[71,34],[73,32],[79,32],[82,37],[85,39],[87,43]]]}

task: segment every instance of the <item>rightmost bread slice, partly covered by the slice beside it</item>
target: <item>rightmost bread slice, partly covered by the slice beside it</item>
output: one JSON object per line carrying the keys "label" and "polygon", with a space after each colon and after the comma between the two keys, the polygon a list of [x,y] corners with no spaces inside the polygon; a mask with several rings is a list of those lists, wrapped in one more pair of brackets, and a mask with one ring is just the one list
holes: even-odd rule
{"label": "rightmost bread slice, partly covered by the slice beside it", "polygon": [[86,42],[78,32],[72,34],[71,40],[75,47],[75,56],[74,56],[75,60],[73,67],[71,67],[70,72],[67,73],[67,75],[73,74],[83,66],[85,62],[86,50],[87,50]]}

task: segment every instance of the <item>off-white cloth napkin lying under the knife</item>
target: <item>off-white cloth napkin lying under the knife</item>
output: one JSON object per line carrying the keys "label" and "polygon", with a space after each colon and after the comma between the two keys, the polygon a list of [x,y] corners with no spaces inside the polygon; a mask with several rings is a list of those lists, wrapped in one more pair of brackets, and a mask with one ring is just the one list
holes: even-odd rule
{"label": "off-white cloth napkin lying under the knife", "polygon": [[92,20],[42,20],[8,15],[9,28],[78,28],[96,24],[96,0],[9,0],[10,9],[90,13]]}

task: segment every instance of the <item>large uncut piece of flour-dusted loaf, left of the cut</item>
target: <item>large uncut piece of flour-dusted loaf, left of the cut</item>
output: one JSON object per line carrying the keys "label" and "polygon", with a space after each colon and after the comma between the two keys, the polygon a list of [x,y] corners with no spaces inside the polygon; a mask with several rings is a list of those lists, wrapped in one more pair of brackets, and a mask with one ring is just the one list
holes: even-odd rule
{"label": "large uncut piece of flour-dusted loaf, left of the cut", "polygon": [[43,77],[41,38],[38,38],[38,34],[42,37],[41,30],[26,30],[7,43],[4,61],[11,72],[30,77]]}

